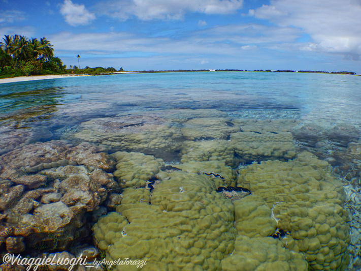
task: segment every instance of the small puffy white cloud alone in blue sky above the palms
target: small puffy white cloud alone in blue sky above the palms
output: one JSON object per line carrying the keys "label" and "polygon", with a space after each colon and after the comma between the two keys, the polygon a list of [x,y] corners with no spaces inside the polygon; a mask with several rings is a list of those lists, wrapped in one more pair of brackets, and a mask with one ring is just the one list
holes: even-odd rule
{"label": "small puffy white cloud alone in blue sky above the palms", "polygon": [[94,13],[90,13],[84,5],[73,4],[71,0],[64,0],[60,13],[72,26],[86,25],[95,19]]}

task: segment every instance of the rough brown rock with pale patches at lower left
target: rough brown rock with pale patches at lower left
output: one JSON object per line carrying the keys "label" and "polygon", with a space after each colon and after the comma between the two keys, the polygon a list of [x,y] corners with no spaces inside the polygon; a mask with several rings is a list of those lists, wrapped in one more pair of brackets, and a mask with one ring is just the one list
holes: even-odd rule
{"label": "rough brown rock with pale patches at lower left", "polygon": [[50,141],[0,156],[0,178],[6,179],[0,181],[0,229],[8,252],[66,250],[89,235],[91,212],[106,200],[108,189],[118,188],[105,171],[115,162],[102,150]]}

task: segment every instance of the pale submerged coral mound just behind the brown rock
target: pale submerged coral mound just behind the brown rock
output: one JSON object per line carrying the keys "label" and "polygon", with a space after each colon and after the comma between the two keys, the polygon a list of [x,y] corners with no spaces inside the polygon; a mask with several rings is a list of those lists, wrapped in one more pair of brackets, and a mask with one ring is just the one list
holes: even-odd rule
{"label": "pale submerged coral mound just behind the brown rock", "polygon": [[78,139],[162,158],[180,148],[180,129],[166,119],[147,115],[95,118],[81,124]]}

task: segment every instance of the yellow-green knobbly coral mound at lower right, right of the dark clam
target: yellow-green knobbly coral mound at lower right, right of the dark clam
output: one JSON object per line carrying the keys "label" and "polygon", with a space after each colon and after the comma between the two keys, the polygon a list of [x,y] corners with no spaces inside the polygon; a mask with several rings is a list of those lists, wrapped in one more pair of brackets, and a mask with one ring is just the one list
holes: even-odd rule
{"label": "yellow-green knobbly coral mound at lower right, right of the dark clam", "polygon": [[238,182],[266,201],[277,227],[290,232],[297,251],[305,252],[310,268],[316,270],[338,270],[348,263],[343,187],[328,166],[303,152],[292,161],[247,166],[240,170]]}

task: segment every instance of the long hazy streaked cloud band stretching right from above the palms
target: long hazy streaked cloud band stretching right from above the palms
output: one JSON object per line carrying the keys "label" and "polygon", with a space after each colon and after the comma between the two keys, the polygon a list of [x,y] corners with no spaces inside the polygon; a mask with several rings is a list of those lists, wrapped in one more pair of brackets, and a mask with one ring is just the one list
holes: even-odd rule
{"label": "long hazy streaked cloud band stretching right from above the palms", "polygon": [[[183,39],[142,37],[126,32],[59,33],[49,37],[56,53],[71,51],[89,55],[227,55],[292,43],[299,29],[264,25],[227,25],[196,31]],[[101,48],[101,49],[100,49]],[[203,59],[201,59],[203,60]]]}

